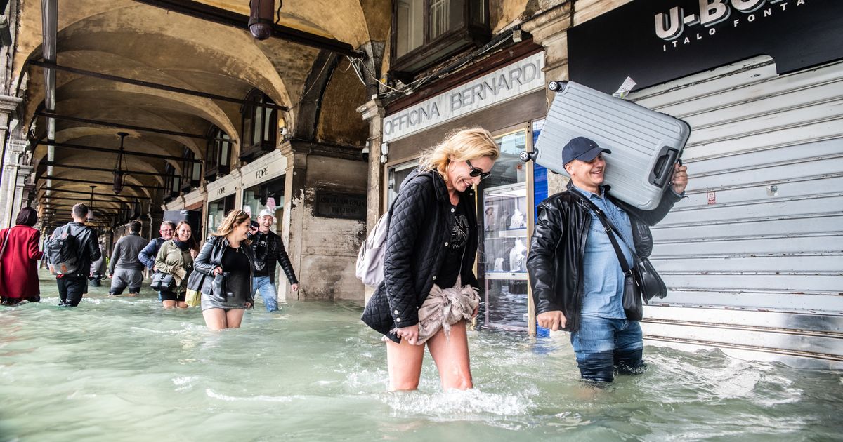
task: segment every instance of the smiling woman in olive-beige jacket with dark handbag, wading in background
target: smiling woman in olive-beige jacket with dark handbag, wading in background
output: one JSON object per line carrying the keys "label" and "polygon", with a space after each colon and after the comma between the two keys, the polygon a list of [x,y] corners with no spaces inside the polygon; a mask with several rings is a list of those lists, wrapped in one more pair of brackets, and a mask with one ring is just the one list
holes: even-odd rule
{"label": "smiling woman in olive-beige jacket with dark handbag, wading in background", "polygon": [[193,244],[191,225],[187,221],[180,221],[175,226],[173,239],[165,241],[158,249],[155,269],[173,275],[170,289],[161,290],[161,303],[164,308],[187,308],[187,278],[193,271],[193,256],[196,253]]}

